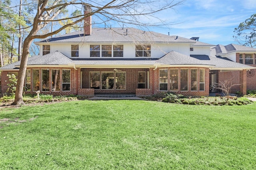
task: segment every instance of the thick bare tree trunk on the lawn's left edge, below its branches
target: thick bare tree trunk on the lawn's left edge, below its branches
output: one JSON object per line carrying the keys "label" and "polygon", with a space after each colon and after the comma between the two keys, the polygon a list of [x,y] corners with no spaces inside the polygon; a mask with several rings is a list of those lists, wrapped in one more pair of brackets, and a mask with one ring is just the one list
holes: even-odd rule
{"label": "thick bare tree trunk on the lawn's left edge, below its branches", "polygon": [[24,40],[23,53],[22,53],[22,58],[20,62],[20,70],[18,73],[18,81],[16,85],[15,99],[12,105],[24,104],[22,99],[22,93],[23,93],[23,86],[24,86],[26,68],[28,63],[29,47],[32,41],[33,39],[31,39],[31,35],[28,35],[28,37],[26,37],[26,39]]}

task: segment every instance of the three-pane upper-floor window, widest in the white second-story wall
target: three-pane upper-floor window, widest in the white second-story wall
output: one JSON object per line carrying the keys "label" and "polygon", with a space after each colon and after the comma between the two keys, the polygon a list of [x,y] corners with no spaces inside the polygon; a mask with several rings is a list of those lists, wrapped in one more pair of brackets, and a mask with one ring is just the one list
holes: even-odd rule
{"label": "three-pane upper-floor window, widest in the white second-story wall", "polygon": [[90,45],[90,57],[124,57],[124,45]]}

